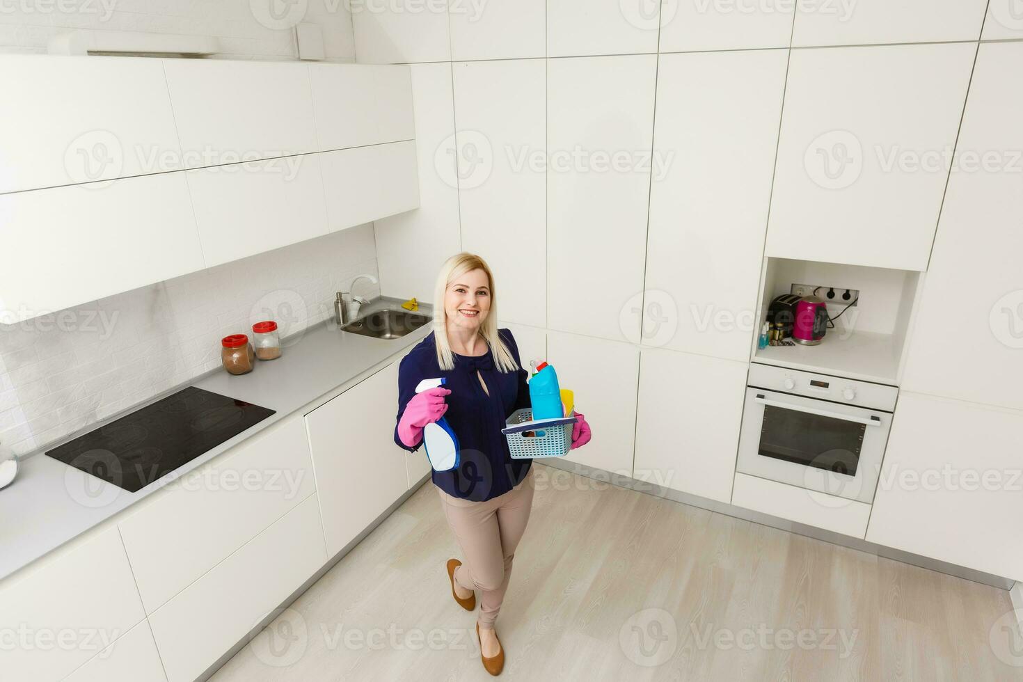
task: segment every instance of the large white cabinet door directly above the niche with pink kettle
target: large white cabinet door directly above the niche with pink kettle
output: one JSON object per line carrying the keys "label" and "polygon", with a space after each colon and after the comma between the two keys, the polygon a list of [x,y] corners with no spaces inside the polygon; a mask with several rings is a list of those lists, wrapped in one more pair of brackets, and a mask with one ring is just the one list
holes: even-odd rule
{"label": "large white cabinet door directly above the niche with pink kettle", "polygon": [[926,270],[976,49],[794,50],[766,255]]}

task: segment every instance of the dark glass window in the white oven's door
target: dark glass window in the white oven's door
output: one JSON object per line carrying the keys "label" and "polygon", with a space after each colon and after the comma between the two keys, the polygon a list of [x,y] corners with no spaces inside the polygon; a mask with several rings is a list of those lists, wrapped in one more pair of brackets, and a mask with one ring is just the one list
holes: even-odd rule
{"label": "dark glass window in the white oven's door", "polygon": [[758,454],[854,476],[865,433],[855,421],[766,405]]}

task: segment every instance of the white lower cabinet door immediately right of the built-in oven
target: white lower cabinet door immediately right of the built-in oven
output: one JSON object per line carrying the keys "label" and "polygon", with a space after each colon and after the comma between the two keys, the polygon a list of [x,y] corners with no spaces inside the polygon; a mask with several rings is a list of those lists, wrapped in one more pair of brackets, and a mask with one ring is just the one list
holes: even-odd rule
{"label": "white lower cabinet door immediately right of the built-in oven", "polygon": [[1023,580],[1023,412],[903,391],[866,539]]}

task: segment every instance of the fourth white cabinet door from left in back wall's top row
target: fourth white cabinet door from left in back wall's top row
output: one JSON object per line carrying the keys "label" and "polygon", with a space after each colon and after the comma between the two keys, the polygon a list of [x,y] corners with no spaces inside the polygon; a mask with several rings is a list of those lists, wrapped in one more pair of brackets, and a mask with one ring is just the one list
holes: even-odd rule
{"label": "fourth white cabinet door from left in back wall's top row", "polygon": [[[642,6],[643,0],[635,5]],[[789,47],[792,2],[676,2],[661,6],[660,51]],[[662,63],[663,60],[662,60]]]}

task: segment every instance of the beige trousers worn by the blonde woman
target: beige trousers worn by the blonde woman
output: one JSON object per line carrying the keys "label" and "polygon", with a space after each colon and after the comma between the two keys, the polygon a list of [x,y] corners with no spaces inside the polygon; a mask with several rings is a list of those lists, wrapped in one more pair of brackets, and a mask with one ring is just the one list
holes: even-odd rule
{"label": "beige trousers worn by the blonde woman", "polygon": [[466,590],[480,590],[480,629],[493,628],[508,589],[515,549],[526,532],[533,506],[535,467],[522,483],[495,498],[473,502],[451,497],[440,488],[441,506],[458,539],[463,559],[454,570],[455,582]]}

